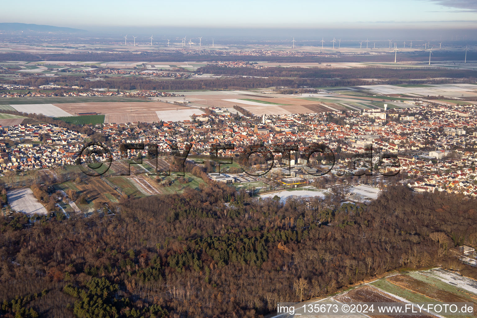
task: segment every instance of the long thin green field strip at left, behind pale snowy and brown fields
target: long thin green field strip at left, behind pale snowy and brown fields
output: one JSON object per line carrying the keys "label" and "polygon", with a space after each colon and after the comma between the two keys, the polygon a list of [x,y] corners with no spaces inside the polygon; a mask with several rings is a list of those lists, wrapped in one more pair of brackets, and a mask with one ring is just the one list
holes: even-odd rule
{"label": "long thin green field strip at left, behind pale snowy and brown fields", "polygon": [[0,105],[110,103],[110,102],[150,102],[150,101],[139,99],[139,98],[128,98],[128,97],[120,97],[120,96],[1,97],[0,98]]}

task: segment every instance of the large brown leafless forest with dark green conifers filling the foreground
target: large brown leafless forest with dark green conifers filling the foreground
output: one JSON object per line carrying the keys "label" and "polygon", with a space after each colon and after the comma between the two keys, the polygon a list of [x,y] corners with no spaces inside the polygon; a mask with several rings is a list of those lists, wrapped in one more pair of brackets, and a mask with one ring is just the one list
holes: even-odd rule
{"label": "large brown leafless forest with dark green conifers filling the foreground", "polygon": [[476,246],[476,201],[388,186],[366,205],[282,204],[211,182],[115,214],[1,217],[0,316],[263,317],[397,268],[477,278],[449,253]]}

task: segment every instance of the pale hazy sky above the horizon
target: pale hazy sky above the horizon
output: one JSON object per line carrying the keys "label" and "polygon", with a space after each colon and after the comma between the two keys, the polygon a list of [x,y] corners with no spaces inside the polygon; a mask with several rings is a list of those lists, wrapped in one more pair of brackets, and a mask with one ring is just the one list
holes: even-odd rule
{"label": "pale hazy sky above the horizon", "polygon": [[199,29],[475,29],[477,0],[4,1],[0,22],[125,32]]}

